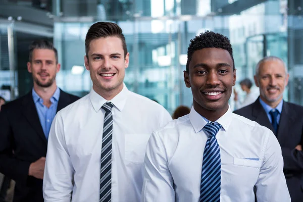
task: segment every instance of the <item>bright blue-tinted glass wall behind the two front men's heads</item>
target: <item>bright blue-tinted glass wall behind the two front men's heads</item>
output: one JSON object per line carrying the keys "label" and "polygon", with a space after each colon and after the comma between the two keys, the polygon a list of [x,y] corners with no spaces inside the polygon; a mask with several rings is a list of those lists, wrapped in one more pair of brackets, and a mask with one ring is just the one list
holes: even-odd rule
{"label": "bright blue-tinted glass wall behind the two front men's heads", "polygon": [[[54,26],[54,41],[63,67],[58,80],[77,94],[91,88],[83,68],[84,39],[89,26],[99,20],[116,22],[123,29],[130,53],[127,87],[156,99],[170,112],[179,105],[192,105],[183,70],[190,39],[205,30],[230,38],[238,81],[252,80],[264,56],[278,56],[288,63],[287,1],[283,0],[61,1],[57,8],[62,16]],[[82,66],[83,72],[73,73],[75,66]],[[244,95],[238,85],[235,88]],[[233,97],[230,104],[233,108]]]}

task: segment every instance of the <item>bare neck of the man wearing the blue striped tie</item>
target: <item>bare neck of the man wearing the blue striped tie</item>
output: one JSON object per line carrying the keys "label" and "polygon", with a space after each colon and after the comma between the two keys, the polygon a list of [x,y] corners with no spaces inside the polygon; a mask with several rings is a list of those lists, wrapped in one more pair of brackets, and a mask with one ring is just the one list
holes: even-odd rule
{"label": "bare neck of the man wearing the blue striped tie", "polygon": [[217,121],[220,117],[222,117],[227,112],[228,104],[218,110],[208,110],[201,107],[196,102],[193,102],[193,108],[199,115],[213,122],[213,121]]}

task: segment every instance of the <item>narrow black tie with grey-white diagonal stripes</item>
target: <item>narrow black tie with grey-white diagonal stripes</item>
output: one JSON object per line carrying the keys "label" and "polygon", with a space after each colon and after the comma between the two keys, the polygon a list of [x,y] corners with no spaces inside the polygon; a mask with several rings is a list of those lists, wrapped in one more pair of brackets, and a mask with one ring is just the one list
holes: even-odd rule
{"label": "narrow black tie with grey-white diagonal stripes", "polygon": [[111,201],[112,194],[112,135],[113,135],[113,115],[112,103],[106,103],[102,106],[105,111],[101,166],[100,166],[100,200],[102,202]]}

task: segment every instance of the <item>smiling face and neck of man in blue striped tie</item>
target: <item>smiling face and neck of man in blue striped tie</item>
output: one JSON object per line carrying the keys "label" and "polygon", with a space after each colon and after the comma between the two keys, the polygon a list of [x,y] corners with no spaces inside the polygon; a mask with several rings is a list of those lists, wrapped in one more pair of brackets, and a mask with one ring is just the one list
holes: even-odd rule
{"label": "smiling face and neck of man in blue striped tie", "polygon": [[193,53],[189,72],[184,71],[184,81],[191,88],[193,107],[200,115],[218,119],[228,110],[235,72],[225,49],[203,48]]}

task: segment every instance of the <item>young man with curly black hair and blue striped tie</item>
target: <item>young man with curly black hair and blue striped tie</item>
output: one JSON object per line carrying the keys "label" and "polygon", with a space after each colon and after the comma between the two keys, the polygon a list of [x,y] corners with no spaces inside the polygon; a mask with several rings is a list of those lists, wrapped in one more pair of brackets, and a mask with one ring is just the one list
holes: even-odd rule
{"label": "young man with curly black hair and blue striped tie", "polygon": [[228,105],[236,81],[229,39],[206,31],[187,54],[193,108],[151,135],[142,201],[290,201],[276,137]]}

